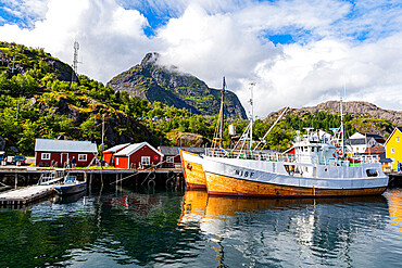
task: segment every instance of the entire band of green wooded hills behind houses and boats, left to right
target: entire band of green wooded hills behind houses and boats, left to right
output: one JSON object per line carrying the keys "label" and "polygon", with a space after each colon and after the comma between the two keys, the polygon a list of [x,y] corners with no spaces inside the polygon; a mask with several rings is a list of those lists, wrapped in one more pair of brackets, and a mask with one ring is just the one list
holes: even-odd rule
{"label": "entire band of green wooded hills behind houses and boats, left to right", "polygon": [[[194,115],[186,109],[131,98],[125,91],[115,91],[84,75],[75,79],[77,82],[72,82],[72,77],[75,78],[67,64],[42,49],[0,42],[0,151],[5,145],[5,150],[17,149],[33,155],[36,138],[90,140],[100,145],[103,118],[105,148],[140,141],[155,146],[202,145],[213,138],[216,115]],[[296,130],[303,131],[304,127],[327,131],[339,127],[340,116],[334,105],[289,110],[267,137],[267,148],[286,150]],[[365,111],[363,114],[346,110],[347,136],[359,130],[387,138],[387,133],[399,126],[399,120],[392,120],[399,118],[399,112],[382,113],[370,105],[357,105],[359,111]],[[264,135],[280,112],[255,122],[255,139]],[[381,115],[397,117],[382,118]],[[226,118],[225,146],[230,144],[228,124],[235,124],[240,135],[248,122]]]}

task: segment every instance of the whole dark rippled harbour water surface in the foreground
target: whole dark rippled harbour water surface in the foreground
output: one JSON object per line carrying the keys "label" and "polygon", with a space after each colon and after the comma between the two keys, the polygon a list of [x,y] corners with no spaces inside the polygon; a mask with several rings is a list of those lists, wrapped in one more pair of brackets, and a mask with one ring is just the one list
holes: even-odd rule
{"label": "whole dark rippled harbour water surface in the foreground", "polygon": [[92,191],[0,210],[0,267],[401,267],[402,190],[317,200]]}

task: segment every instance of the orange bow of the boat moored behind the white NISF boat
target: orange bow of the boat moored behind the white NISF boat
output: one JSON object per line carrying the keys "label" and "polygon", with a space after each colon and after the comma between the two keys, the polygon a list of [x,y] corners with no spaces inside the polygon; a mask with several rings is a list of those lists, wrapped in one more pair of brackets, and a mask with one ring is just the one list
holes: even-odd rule
{"label": "orange bow of the boat moored behind the white NISF boat", "polygon": [[201,157],[181,150],[180,156],[187,188],[206,189],[205,173],[202,168]]}

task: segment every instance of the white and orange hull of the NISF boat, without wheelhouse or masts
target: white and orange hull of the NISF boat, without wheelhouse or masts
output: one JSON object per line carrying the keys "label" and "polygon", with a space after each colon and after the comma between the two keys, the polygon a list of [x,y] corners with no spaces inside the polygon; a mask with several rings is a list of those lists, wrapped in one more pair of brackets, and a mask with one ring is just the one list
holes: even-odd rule
{"label": "white and orange hull of the NISF boat, without wheelhouse or masts", "polygon": [[[303,173],[291,175],[286,166]],[[252,196],[339,196],[380,194],[388,177],[378,163],[330,166],[204,156],[210,194]],[[368,177],[366,170],[376,170]]]}

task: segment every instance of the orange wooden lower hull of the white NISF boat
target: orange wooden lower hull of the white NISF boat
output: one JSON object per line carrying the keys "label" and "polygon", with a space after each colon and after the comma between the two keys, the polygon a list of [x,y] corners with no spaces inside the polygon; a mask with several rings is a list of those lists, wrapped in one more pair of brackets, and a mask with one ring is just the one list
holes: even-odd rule
{"label": "orange wooden lower hull of the white NISF boat", "polygon": [[273,183],[235,179],[222,175],[205,173],[208,193],[229,196],[266,196],[266,197],[318,197],[353,196],[381,194],[386,187],[367,189],[316,189],[288,187]]}

